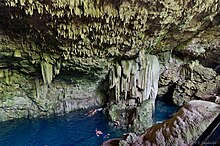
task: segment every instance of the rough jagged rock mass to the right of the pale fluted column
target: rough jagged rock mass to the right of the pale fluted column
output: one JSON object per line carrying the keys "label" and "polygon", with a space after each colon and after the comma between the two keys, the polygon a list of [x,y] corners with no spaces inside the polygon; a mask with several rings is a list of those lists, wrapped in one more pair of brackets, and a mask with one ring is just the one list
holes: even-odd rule
{"label": "rough jagged rock mass to the right of the pale fluted column", "polygon": [[210,101],[219,94],[219,83],[220,76],[198,60],[184,63],[173,59],[161,73],[159,94],[172,96],[172,102],[180,106],[192,99]]}

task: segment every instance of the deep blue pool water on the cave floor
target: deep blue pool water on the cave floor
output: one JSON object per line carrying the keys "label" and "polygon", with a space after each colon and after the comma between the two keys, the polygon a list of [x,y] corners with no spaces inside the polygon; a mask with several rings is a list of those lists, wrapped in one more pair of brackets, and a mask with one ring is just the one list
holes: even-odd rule
{"label": "deep blue pool water on the cave floor", "polygon": [[[158,121],[169,118],[176,111],[162,102],[157,102],[156,106],[162,106],[156,110]],[[93,117],[85,116],[86,112],[1,122],[0,146],[98,146],[106,139],[96,136],[96,128],[110,133],[110,138],[120,137],[125,132],[110,127],[102,112]]]}

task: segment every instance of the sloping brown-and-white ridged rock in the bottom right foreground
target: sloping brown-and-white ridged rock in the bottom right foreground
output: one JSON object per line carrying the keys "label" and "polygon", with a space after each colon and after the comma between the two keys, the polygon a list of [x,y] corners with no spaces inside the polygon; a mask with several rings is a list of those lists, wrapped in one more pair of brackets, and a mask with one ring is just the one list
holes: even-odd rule
{"label": "sloping brown-and-white ridged rock in the bottom right foreground", "polygon": [[[192,145],[219,112],[220,105],[218,104],[201,100],[190,101],[173,118],[147,129],[130,146]],[[107,141],[103,143],[103,146],[113,145]]]}

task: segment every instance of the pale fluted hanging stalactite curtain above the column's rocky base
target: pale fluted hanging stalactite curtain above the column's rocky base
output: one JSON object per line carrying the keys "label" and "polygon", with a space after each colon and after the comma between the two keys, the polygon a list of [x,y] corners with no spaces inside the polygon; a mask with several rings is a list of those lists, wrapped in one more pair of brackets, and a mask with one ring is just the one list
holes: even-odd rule
{"label": "pale fluted hanging stalactite curtain above the column's rocky base", "polygon": [[135,60],[121,60],[109,72],[109,90],[112,101],[126,103],[156,99],[159,80],[159,62],[154,55],[139,52]]}

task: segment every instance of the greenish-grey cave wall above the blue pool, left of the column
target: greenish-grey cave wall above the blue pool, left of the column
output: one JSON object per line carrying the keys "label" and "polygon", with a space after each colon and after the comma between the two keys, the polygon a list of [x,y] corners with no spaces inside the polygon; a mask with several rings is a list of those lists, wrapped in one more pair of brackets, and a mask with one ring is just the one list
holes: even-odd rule
{"label": "greenish-grey cave wall above the blue pool, left of the column", "polygon": [[14,70],[0,70],[0,121],[63,115],[101,104],[100,80],[62,73],[51,84]]}

